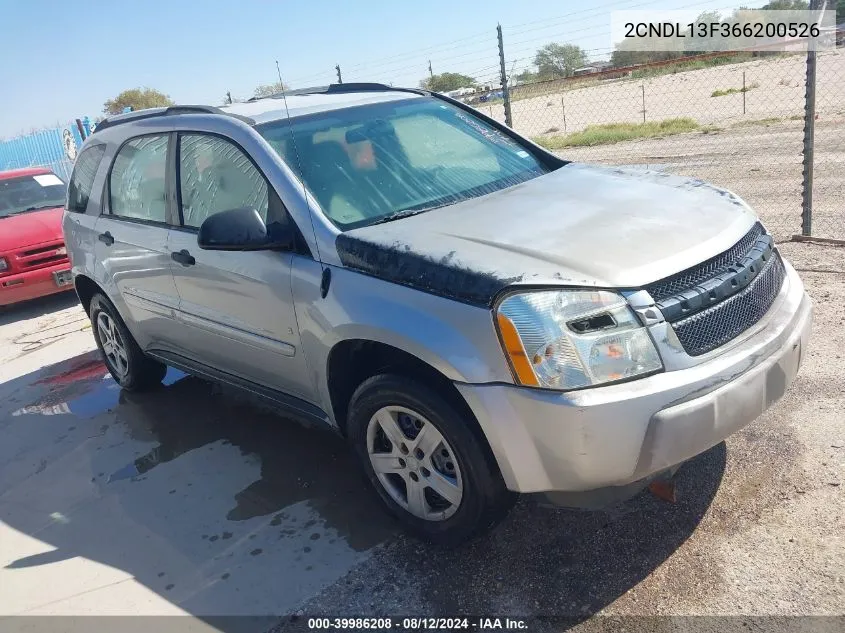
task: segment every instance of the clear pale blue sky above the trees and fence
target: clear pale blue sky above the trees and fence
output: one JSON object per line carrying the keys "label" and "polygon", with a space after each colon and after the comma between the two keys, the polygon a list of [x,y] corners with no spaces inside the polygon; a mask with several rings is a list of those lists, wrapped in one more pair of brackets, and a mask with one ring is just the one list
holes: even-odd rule
{"label": "clear pale blue sky above the trees and fence", "polygon": [[[754,0],[742,2],[760,6]],[[416,86],[428,72],[482,81],[498,72],[496,23],[508,71],[548,42],[610,52],[610,12],[707,10],[725,0],[0,0],[4,88],[0,138],[97,116],[121,90],[149,86],[177,103],[220,104],[277,79],[292,86],[383,81]]]}

